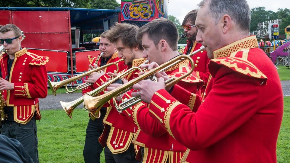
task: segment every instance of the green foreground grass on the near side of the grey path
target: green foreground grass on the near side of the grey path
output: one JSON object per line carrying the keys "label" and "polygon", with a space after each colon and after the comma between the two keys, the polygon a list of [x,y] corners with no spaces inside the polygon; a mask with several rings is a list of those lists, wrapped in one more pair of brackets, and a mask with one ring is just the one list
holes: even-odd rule
{"label": "green foreground grass on the near side of the grey path", "polygon": [[[40,163],[84,163],[82,150],[88,113],[76,109],[73,119],[63,110],[43,110],[37,121]],[[278,163],[290,160],[290,97],[284,97],[284,115],[277,143]],[[104,153],[101,163],[105,163]]]}

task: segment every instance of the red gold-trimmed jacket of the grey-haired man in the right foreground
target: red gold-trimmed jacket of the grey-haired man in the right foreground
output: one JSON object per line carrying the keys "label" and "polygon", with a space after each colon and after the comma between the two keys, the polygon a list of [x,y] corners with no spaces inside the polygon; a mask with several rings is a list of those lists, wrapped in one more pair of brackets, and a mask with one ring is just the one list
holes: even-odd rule
{"label": "red gold-trimmed jacket of the grey-haired man in the right foreground", "polygon": [[277,162],[283,94],[275,66],[255,36],[215,50],[214,58],[208,66],[212,78],[196,112],[159,90],[150,115],[188,148],[181,162]]}

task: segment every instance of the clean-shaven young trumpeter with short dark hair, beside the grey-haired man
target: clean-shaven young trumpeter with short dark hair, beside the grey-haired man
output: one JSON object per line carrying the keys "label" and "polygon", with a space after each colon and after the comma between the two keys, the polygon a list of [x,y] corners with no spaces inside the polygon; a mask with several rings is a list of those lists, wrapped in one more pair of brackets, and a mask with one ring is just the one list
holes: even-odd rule
{"label": "clean-shaven young trumpeter with short dark hair, beside the grey-haired man", "polygon": [[[153,30],[154,29],[154,30]],[[155,19],[140,27],[137,39],[142,40],[144,48],[143,57],[152,62],[144,65],[150,69],[151,66],[161,65],[179,55],[177,51],[178,32],[175,25],[164,18]],[[165,70],[170,77],[180,77],[190,70],[189,61],[184,60]],[[203,81],[198,79],[195,72],[178,82],[183,88],[199,94],[198,88],[203,85]],[[126,92],[122,99],[129,99],[132,92]],[[171,93],[176,98],[181,97],[178,90],[173,89]],[[182,100],[182,98],[179,98]],[[187,99],[187,98],[186,98]],[[192,100],[184,101],[184,104],[191,106]],[[165,129],[162,128],[150,115],[146,103],[138,103],[126,110],[132,116],[128,116],[138,126],[137,134],[133,140],[134,144],[143,148],[139,153],[143,154],[143,163],[178,163],[186,148],[173,139]],[[156,159],[160,158],[160,159]]]}

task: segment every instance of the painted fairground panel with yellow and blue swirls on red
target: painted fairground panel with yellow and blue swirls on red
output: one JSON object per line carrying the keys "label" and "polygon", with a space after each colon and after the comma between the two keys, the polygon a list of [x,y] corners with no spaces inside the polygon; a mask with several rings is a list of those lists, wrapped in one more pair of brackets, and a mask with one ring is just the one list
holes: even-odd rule
{"label": "painted fairground panel with yellow and blue swirls on red", "polygon": [[168,0],[122,0],[121,21],[152,21],[168,17]]}

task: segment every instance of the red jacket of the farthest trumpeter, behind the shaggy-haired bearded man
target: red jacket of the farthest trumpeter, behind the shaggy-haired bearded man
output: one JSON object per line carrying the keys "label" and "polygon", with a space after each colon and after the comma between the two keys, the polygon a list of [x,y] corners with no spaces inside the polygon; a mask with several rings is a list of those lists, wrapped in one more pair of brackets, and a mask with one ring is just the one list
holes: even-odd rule
{"label": "red jacket of the farthest trumpeter, behind the shaggy-haired bearded man", "polygon": [[[98,56],[99,56],[100,54],[98,54]],[[94,57],[94,56],[88,56],[88,59],[89,59],[89,62],[90,62],[90,64],[93,66],[94,65],[94,63],[96,62],[96,60],[97,60],[97,57]],[[102,60],[103,58],[101,57],[99,60],[98,60],[98,63],[97,63],[97,65],[98,65],[98,67],[100,67],[101,66],[101,60]],[[117,62],[117,61],[119,61],[120,60],[120,58],[118,58],[118,51],[116,51],[112,56],[111,56],[111,58],[108,60],[108,62],[107,62],[107,64],[109,64],[109,63],[113,63],[113,62]],[[125,65],[125,63],[124,63],[124,61],[120,61],[120,62],[118,62],[118,71],[120,72],[120,71],[122,71],[122,70],[124,70],[124,69],[126,69],[127,68],[127,66]],[[114,65],[111,65],[111,66],[109,66],[109,67],[106,67],[103,71],[105,72],[105,73],[107,73],[107,72],[116,72],[116,70],[117,70],[117,67],[116,66],[114,66]],[[82,94],[85,94],[85,93],[87,93],[87,92],[90,92],[90,91],[92,91],[92,90],[94,90],[94,89],[96,89],[96,88],[98,88],[99,87],[99,85],[97,85],[96,83],[94,84],[94,85],[92,85],[91,87],[87,87],[87,88],[85,88],[85,89],[83,89],[82,90]]]}

